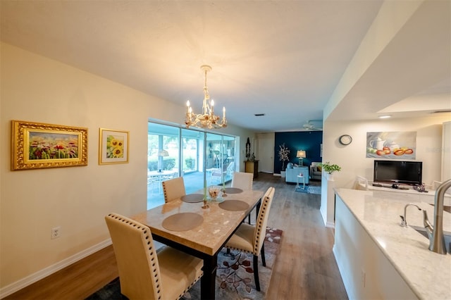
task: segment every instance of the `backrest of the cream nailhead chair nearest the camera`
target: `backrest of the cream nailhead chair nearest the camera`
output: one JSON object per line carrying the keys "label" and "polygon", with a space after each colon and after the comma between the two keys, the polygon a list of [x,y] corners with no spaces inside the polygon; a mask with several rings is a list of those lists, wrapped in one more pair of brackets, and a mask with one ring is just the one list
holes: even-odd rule
{"label": "backrest of the cream nailhead chair nearest the camera", "polygon": [[160,270],[149,227],[113,213],[105,221],[118,263],[121,294],[128,299],[159,299]]}

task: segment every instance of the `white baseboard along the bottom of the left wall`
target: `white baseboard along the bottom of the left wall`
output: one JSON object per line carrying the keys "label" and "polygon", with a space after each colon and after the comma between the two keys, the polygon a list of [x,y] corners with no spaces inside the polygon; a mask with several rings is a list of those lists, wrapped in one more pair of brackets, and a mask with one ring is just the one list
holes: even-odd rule
{"label": "white baseboard along the bottom of the left wall", "polygon": [[58,263],[55,263],[54,265],[49,265],[47,268],[39,270],[36,273],[28,275],[27,277],[21,280],[11,283],[11,285],[2,287],[0,289],[0,299],[9,296],[17,292],[18,290],[23,289],[24,287],[32,285],[33,283],[42,280],[42,278],[47,277],[57,272],[58,270],[66,268],[68,265],[76,263],[77,261],[80,261],[80,259],[85,258],[101,249],[104,249],[106,246],[109,245],[111,245],[111,239],[106,239],[104,242],[100,242],[99,244],[89,247],[88,249],[85,249],[79,252],[78,254],[74,254],[73,256],[70,256],[66,259],[63,259],[62,261],[59,261]]}

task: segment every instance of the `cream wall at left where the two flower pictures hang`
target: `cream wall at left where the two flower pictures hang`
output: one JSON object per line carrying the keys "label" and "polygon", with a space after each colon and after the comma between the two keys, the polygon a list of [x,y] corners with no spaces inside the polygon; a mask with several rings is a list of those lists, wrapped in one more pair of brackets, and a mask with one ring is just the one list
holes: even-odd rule
{"label": "cream wall at left where the two flower pictures hang", "polygon": [[[105,246],[107,213],[146,209],[147,120],[182,123],[185,106],[0,45],[0,296],[5,296]],[[11,171],[11,120],[87,127],[88,165]],[[129,163],[98,164],[99,127],[130,131]],[[239,135],[240,149],[254,135],[232,125],[221,132]],[[61,237],[50,239],[56,226]]]}

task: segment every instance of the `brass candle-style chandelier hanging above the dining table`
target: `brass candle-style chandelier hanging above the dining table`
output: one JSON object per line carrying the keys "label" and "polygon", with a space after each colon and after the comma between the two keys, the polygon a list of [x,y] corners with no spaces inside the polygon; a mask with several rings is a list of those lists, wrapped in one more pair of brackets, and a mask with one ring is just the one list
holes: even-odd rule
{"label": "brass candle-style chandelier hanging above the dining table", "polygon": [[190,126],[193,126],[209,129],[227,127],[226,108],[223,107],[223,118],[220,123],[220,117],[214,114],[214,100],[210,100],[209,90],[206,87],[206,73],[211,71],[211,67],[209,65],[202,65],[200,69],[203,70],[205,74],[204,102],[202,104],[202,113],[193,113],[190,106],[190,100],[186,101],[186,127],[189,128]]}

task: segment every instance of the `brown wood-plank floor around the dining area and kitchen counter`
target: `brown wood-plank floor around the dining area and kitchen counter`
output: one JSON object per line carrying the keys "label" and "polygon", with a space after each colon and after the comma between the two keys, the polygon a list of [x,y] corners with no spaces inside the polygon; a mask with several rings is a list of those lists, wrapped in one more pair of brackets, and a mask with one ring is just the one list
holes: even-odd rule
{"label": "brown wood-plank floor around the dining area and kitchen counter", "polygon": [[[319,213],[321,196],[259,173],[254,189],[268,187],[276,188],[268,225],[283,230],[283,237],[266,299],[347,299],[332,253],[333,229],[324,227]],[[117,276],[109,246],[4,299],[85,299]]]}

